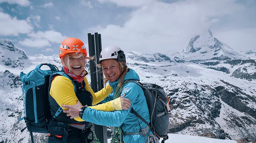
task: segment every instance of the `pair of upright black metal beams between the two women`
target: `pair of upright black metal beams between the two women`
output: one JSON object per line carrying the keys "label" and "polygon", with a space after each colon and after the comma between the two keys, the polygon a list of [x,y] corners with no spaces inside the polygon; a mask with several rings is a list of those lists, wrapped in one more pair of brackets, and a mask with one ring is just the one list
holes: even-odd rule
{"label": "pair of upright black metal beams between the two women", "polygon": [[[101,35],[98,33],[95,33],[95,42],[94,42],[94,35],[92,35],[91,33],[88,33],[88,44],[89,44],[90,57],[96,56],[95,58],[98,63],[99,55],[101,52]],[[96,46],[96,50],[95,50],[95,46]],[[97,70],[95,62],[93,61],[90,61],[90,71],[91,71],[91,86],[93,91],[97,92],[103,88],[103,78],[100,77],[101,75],[103,77],[103,73],[100,70]],[[101,143],[107,143],[107,127],[106,126],[100,126],[100,125],[94,124],[94,131]]]}

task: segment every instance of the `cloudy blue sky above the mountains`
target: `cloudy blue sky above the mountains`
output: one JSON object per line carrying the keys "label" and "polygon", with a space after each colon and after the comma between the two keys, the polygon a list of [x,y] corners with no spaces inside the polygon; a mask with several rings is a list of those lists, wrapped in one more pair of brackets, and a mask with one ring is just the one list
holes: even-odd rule
{"label": "cloudy blue sky above the mountains", "polygon": [[0,0],[0,39],[27,55],[58,54],[62,40],[101,33],[125,53],[179,52],[195,35],[256,50],[256,0]]}

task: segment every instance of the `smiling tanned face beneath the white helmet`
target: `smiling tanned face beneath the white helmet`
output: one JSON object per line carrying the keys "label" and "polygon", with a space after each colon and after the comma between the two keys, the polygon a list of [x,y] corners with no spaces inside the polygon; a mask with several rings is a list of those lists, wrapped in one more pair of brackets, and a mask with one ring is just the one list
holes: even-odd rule
{"label": "smiling tanned face beneath the white helmet", "polygon": [[105,77],[110,82],[115,82],[121,76],[122,69],[115,59],[105,59],[101,62]]}

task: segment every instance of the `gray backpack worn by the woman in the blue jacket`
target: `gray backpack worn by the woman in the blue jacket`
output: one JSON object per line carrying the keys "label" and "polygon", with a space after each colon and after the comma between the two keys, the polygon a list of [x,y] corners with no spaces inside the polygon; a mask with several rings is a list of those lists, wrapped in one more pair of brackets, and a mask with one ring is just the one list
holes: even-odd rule
{"label": "gray backpack worn by the woman in the blue jacket", "polygon": [[131,113],[146,123],[154,135],[158,138],[163,138],[162,142],[164,142],[168,139],[168,112],[170,111],[169,99],[166,97],[164,89],[156,84],[140,83],[135,80],[129,80],[128,82],[136,83],[143,89],[149,109],[150,123],[134,111],[133,108],[131,109]]}

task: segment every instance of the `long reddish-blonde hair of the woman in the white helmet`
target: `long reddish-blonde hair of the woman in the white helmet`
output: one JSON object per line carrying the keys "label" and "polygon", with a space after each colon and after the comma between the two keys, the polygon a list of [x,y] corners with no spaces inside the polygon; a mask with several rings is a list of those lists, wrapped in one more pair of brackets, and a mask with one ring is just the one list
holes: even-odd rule
{"label": "long reddish-blonde hair of the woman in the white helmet", "polygon": [[[118,62],[119,68],[121,68],[121,75],[119,77],[120,81],[119,81],[119,83],[117,85],[120,86],[120,90],[122,90],[124,77],[125,77],[125,74],[128,72],[128,67],[127,67],[125,61],[121,61],[121,62],[118,61],[118,60],[116,60],[116,61]],[[102,69],[102,63],[98,64],[97,66]],[[117,71],[117,72],[119,72],[119,71]],[[108,81],[109,80],[105,77],[104,78],[105,87],[106,87],[106,84],[107,84]]]}

